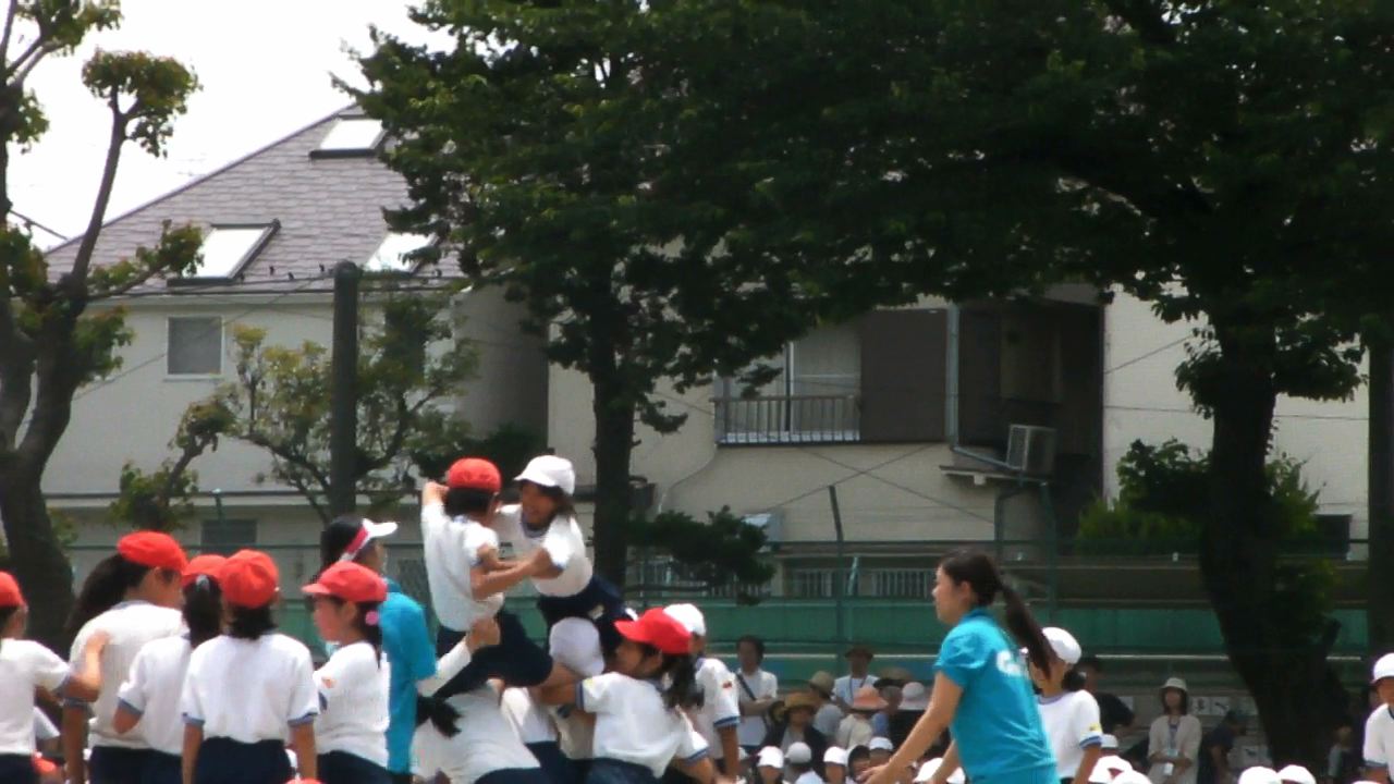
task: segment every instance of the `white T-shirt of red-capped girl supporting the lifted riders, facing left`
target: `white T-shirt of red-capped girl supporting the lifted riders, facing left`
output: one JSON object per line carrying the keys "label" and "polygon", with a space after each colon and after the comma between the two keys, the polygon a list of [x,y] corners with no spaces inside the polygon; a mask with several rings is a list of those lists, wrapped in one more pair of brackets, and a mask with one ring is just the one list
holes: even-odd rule
{"label": "white T-shirt of red-capped girl supporting the lifted riders, facing left", "polygon": [[641,764],[662,776],[673,759],[693,763],[707,756],[707,742],[687,714],[669,710],[658,689],[619,672],[577,684],[576,707],[595,714],[595,759]]}

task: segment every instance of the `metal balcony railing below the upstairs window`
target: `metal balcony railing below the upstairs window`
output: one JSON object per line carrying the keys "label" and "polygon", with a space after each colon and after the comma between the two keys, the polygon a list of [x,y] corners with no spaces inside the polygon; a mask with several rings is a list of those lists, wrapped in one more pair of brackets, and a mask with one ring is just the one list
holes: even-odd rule
{"label": "metal balcony railing below the upstairs window", "polygon": [[718,444],[839,444],[861,439],[856,395],[718,398]]}

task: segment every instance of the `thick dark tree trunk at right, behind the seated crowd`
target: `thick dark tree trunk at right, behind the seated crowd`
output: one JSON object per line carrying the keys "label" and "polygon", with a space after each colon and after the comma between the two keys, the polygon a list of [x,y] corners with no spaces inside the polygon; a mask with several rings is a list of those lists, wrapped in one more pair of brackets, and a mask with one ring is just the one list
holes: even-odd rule
{"label": "thick dark tree trunk at right, behind the seated crowd", "polygon": [[1264,466],[1277,391],[1252,343],[1227,342],[1223,329],[1217,335],[1224,354],[1218,399],[1210,400],[1213,519],[1204,526],[1202,576],[1273,760],[1319,770],[1344,695],[1333,693],[1340,684],[1326,664],[1323,631],[1294,633],[1291,608],[1276,597],[1281,530]]}

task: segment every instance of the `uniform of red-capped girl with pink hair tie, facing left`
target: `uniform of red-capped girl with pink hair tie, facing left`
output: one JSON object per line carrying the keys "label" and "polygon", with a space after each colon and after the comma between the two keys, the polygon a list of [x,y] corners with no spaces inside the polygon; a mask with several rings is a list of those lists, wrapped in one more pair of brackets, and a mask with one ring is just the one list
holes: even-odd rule
{"label": "uniform of red-capped girl with pink hair tie, facing left", "polygon": [[388,784],[392,665],[371,643],[346,644],[315,671],[315,752],[323,784]]}

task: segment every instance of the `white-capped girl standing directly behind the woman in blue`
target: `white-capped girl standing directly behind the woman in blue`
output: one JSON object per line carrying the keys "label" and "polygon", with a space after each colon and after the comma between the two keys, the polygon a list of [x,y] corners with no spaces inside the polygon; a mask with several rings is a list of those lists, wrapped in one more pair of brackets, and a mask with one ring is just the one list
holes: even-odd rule
{"label": "white-capped girl standing directly behind the woman in blue", "polygon": [[1098,703],[1083,691],[1083,672],[1073,670],[1083,654],[1075,636],[1054,626],[1044,629],[1044,635],[1051,649],[1050,668],[1029,667],[1040,691],[1041,724],[1055,752],[1055,776],[1062,784],[1083,784],[1103,753]]}

